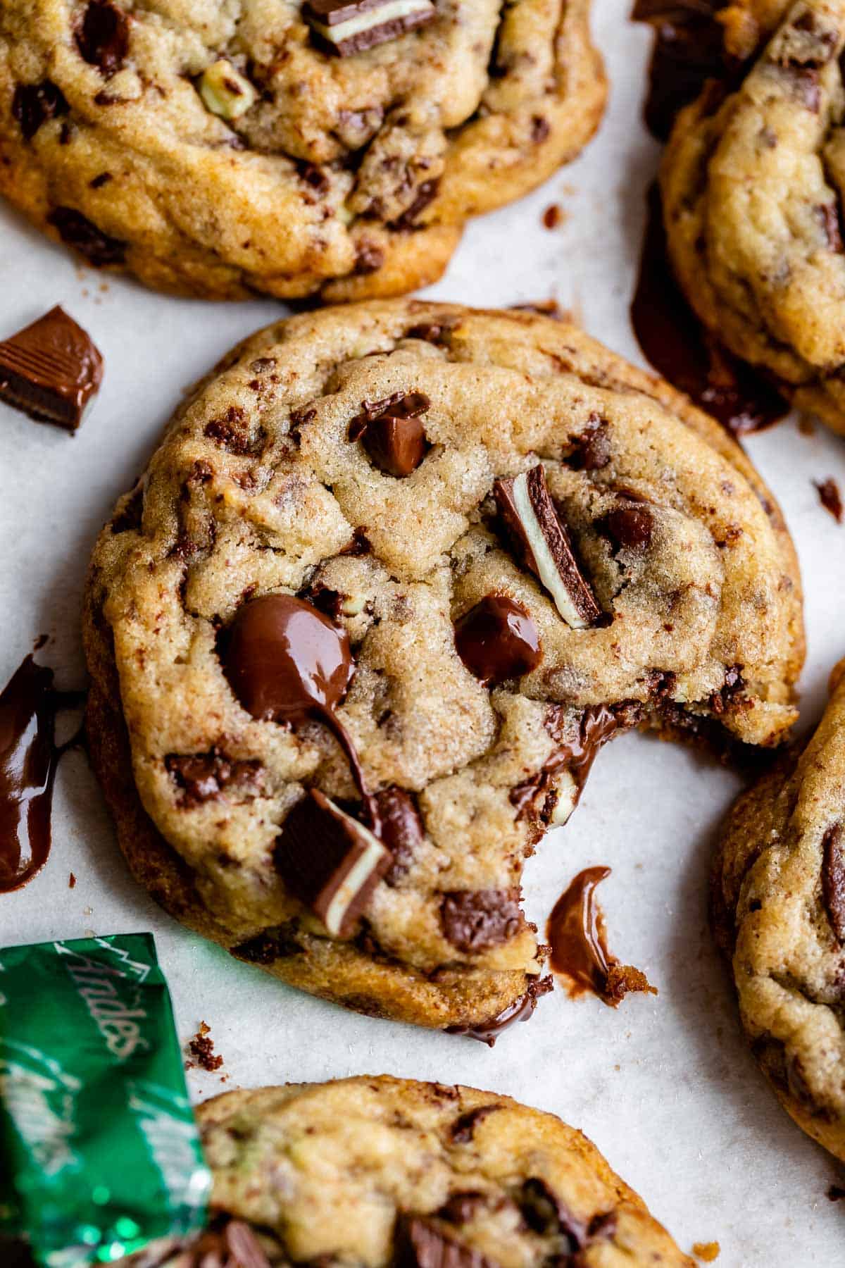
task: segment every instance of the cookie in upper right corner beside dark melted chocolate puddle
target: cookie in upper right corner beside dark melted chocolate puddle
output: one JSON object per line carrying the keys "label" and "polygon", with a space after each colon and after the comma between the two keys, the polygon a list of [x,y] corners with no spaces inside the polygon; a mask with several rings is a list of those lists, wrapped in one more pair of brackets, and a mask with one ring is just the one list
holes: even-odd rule
{"label": "cookie in upper right corner beside dark melted chocolate puddle", "polygon": [[845,431],[845,5],[799,3],[737,91],[682,112],[661,167],[669,254],[704,326]]}

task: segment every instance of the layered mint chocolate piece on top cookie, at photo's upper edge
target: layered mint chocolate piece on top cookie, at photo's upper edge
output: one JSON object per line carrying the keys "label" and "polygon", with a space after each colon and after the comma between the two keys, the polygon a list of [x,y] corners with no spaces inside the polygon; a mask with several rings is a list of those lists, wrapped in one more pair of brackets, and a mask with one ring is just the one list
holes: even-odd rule
{"label": "layered mint chocolate piece on top cookie, at photo's upper edge", "polygon": [[303,18],[329,53],[350,57],[435,19],[431,0],[307,0]]}

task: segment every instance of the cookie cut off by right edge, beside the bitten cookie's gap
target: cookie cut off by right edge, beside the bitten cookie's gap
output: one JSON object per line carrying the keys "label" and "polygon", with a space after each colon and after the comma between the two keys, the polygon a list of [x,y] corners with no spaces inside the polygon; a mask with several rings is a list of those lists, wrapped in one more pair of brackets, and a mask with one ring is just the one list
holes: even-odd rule
{"label": "cookie cut off by right edge, beside the bitten cookie's gap", "polygon": [[845,1160],[845,661],[815,735],[734,806],[712,913],[763,1073]]}

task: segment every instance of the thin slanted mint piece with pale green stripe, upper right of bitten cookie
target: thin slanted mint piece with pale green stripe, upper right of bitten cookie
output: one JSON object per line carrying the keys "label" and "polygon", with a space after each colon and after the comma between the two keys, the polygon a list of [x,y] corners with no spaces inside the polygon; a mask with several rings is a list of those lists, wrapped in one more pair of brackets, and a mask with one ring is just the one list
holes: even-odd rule
{"label": "thin slanted mint piece with pale green stripe, upper right of bitten cookie", "polygon": [[578,567],[542,465],[537,463],[513,479],[495,481],[493,495],[526,566],[549,591],[566,624],[575,630],[593,625],[602,611]]}

